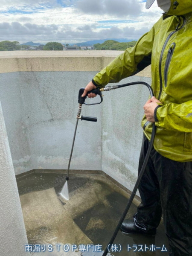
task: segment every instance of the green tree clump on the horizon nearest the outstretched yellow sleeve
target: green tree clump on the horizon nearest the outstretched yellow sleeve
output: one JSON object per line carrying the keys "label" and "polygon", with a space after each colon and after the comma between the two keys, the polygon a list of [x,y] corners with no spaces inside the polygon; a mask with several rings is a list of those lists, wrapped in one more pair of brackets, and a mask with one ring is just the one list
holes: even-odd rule
{"label": "green tree clump on the horizon nearest the outstretched yellow sleeve", "polygon": [[116,50],[116,51],[124,51],[128,47],[133,47],[137,41],[131,41],[127,43],[119,43],[115,40],[107,40],[102,44],[94,44],[94,48],[96,50]]}

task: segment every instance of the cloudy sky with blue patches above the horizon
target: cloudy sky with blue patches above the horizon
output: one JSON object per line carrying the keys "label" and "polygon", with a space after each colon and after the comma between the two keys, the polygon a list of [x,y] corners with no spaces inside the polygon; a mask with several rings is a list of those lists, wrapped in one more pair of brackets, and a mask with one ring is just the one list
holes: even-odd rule
{"label": "cloudy sky with blue patches above the horizon", "polygon": [[146,0],[1,0],[0,41],[79,43],[137,40],[160,18]]}

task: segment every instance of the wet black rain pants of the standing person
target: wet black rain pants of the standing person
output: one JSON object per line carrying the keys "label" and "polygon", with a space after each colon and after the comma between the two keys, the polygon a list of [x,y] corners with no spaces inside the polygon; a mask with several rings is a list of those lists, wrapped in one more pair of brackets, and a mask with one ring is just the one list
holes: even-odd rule
{"label": "wet black rain pants of the standing person", "polygon": [[[148,145],[144,135],[139,172]],[[192,256],[192,162],[170,160],[153,148],[139,192],[142,202],[134,216],[137,227],[157,228],[163,213],[169,256]]]}

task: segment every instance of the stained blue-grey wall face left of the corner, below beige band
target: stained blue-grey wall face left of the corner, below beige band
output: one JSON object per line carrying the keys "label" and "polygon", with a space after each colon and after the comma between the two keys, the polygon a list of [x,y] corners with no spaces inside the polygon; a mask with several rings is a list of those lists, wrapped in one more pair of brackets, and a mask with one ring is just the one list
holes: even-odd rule
{"label": "stained blue-grey wall face left of the corner, below beige band", "polygon": [[[78,111],[78,92],[95,72],[0,74],[0,99],[15,174],[67,169]],[[83,106],[98,122],[79,121],[71,169],[101,170],[101,105]],[[97,131],[93,135],[93,131]],[[94,157],[92,157],[94,156]]]}

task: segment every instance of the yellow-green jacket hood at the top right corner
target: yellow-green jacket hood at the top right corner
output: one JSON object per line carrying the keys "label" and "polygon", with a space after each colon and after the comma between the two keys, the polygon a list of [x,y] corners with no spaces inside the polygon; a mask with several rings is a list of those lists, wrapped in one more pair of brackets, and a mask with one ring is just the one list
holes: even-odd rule
{"label": "yellow-green jacket hood at the top right corner", "polygon": [[192,0],[171,0],[171,7],[166,15],[184,15],[192,12]]}

